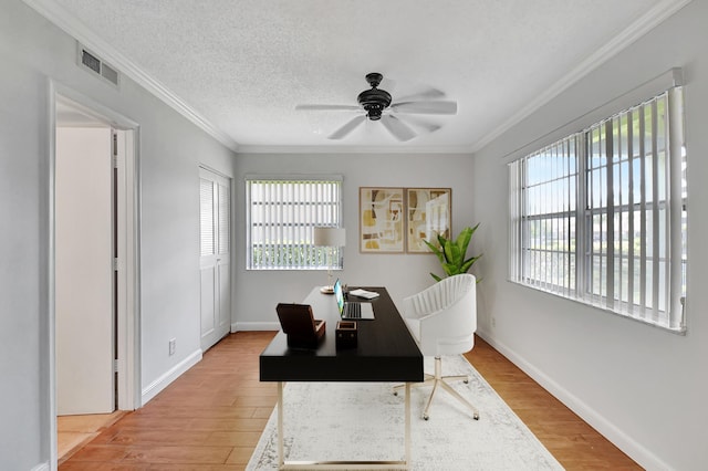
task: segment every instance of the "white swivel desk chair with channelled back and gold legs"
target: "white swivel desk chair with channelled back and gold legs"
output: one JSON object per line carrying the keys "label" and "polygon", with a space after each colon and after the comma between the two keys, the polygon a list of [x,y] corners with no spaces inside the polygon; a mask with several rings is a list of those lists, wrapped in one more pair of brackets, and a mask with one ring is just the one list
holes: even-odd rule
{"label": "white swivel desk chair with channelled back and gold legs", "polygon": [[[477,331],[477,280],[471,274],[459,274],[442,279],[418,294],[403,300],[402,315],[410,334],[418,343],[424,356],[435,357],[435,375],[426,374],[424,383],[413,387],[433,385],[430,398],[423,412],[428,420],[428,410],[438,386],[448,391],[472,411],[479,420],[479,411],[467,399],[452,389],[447,381],[469,381],[468,376],[442,376],[442,355],[460,355],[475,345]],[[394,394],[403,386],[396,386]]]}

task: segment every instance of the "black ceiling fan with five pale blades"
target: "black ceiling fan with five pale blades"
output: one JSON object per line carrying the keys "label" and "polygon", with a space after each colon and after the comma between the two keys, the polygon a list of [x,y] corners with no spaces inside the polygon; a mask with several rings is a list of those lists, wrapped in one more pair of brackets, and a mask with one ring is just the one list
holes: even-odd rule
{"label": "black ceiling fan with five pale blades", "polygon": [[[369,90],[365,90],[357,96],[358,105],[298,105],[295,109],[314,109],[314,111],[354,111],[364,112],[358,114],[342,127],[332,133],[327,138],[342,139],[352,130],[364,123],[366,119],[379,121],[386,129],[398,140],[410,140],[417,136],[417,133],[399,119],[397,114],[426,114],[426,115],[454,115],[457,114],[457,102],[444,101],[424,101],[421,98],[439,98],[445,94],[438,90],[430,88],[423,93],[400,98],[393,102],[388,92],[378,88],[381,81],[384,78],[378,72],[366,74],[366,82],[371,85]],[[433,132],[439,126],[426,122],[417,121],[415,124]]]}

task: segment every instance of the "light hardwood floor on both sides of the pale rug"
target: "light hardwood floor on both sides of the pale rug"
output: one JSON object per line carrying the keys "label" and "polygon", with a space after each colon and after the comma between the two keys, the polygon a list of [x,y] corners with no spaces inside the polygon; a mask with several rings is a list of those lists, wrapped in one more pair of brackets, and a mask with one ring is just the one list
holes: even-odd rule
{"label": "light hardwood floor on both sides of the pale rug", "polygon": [[[258,379],[258,356],[272,337],[229,335],[60,471],[243,469],[277,400],[275,385]],[[641,469],[483,341],[466,356],[568,470]]]}

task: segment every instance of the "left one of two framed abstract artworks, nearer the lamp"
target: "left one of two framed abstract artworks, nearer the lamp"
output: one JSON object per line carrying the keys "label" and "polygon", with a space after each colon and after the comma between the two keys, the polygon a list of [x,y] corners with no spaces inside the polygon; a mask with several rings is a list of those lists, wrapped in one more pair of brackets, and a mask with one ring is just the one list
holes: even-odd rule
{"label": "left one of two framed abstract artworks, nearer the lamp", "polygon": [[360,187],[360,252],[403,253],[405,218],[403,188]]}

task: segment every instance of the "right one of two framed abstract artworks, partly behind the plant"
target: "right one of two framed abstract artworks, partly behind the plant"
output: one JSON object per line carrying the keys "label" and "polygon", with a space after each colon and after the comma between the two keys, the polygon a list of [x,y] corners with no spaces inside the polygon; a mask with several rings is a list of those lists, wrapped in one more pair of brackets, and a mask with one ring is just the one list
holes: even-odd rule
{"label": "right one of two framed abstract artworks, partly behind the plant", "polygon": [[430,253],[424,240],[437,245],[438,234],[450,237],[452,190],[406,188],[406,251]]}

